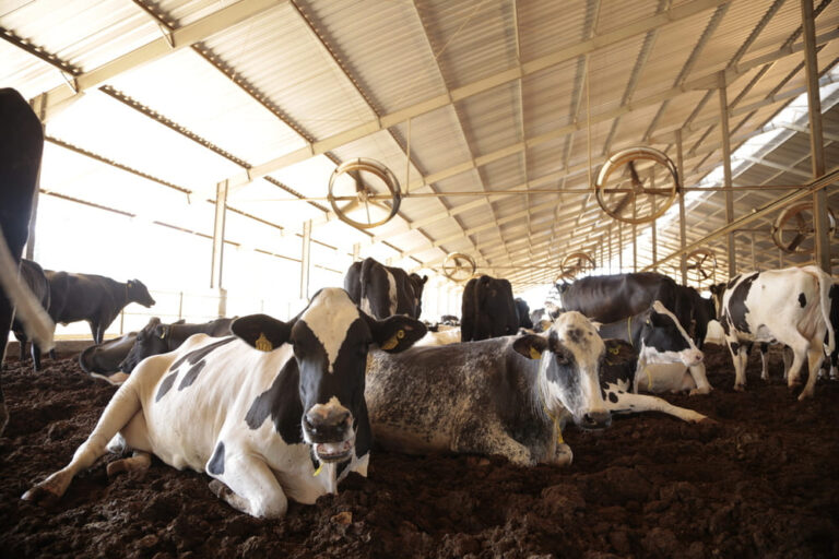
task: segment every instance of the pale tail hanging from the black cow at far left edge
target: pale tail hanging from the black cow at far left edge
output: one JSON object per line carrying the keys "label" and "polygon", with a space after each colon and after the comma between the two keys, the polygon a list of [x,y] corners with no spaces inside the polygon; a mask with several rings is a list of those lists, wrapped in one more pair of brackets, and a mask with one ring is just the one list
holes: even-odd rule
{"label": "pale tail hanging from the black cow at far left edge", "polygon": [[15,309],[15,314],[23,323],[26,336],[37,344],[43,352],[49,352],[56,346],[52,342],[56,324],[25,282],[20,281],[17,271],[19,266],[9,251],[2,230],[0,230],[0,286],[9,298],[12,308]]}

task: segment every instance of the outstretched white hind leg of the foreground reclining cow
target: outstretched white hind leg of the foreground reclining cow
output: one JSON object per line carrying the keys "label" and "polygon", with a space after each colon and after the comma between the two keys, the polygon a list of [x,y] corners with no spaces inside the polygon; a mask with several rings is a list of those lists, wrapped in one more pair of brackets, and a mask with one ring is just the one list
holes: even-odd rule
{"label": "outstretched white hind leg of the foreground reclining cow", "polygon": [[23,493],[22,499],[49,502],[67,491],[75,475],[93,465],[106,452],[106,445],[140,412],[140,394],[134,383],[127,382],[114,394],[87,440],[79,447],[63,468]]}

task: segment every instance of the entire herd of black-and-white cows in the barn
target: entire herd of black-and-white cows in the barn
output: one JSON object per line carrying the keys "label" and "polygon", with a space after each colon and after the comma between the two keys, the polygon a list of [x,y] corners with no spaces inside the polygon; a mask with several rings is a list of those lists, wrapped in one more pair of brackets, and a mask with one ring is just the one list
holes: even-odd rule
{"label": "entire herd of black-and-white cows in the barn", "polygon": [[[815,266],[738,275],[711,299],[654,273],[587,277],[559,286],[563,309],[547,319],[532,318],[508,281],[484,275],[466,284],[459,325],[448,317],[430,326],[418,320],[427,277],[366,259],[350,267],[343,289],[321,289],[288,321],[152,319],[105,342],[126,305],[154,300],[137,280],[20,263],[43,132],[16,92],[0,91],[0,118],[19,138],[34,139],[0,152],[0,270],[20,270],[0,274],[0,326],[12,324],[16,308],[23,359],[27,338],[50,348],[50,318],[86,320],[95,345],[80,355],[82,368],[119,384],[70,463],[26,491],[27,500],[61,497],[106,451],[131,451],[110,462],[108,474],[146,468],[151,454],[206,472],[217,497],[259,518],[284,515],[288,499],[311,503],[335,492],[350,472],[366,475],[374,443],[416,454],[500,454],[523,466],[568,464],[568,423],[602,429],[614,414],[645,411],[709,420],[653,393],[710,393],[701,348],[714,318],[738,390],[755,344],[791,348],[790,386],[808,362],[801,399],[813,396],[825,354],[836,373],[839,293]],[[3,353],[7,337],[0,330]],[[38,369],[35,348],[33,361]],[[2,432],[4,405],[0,419]]]}

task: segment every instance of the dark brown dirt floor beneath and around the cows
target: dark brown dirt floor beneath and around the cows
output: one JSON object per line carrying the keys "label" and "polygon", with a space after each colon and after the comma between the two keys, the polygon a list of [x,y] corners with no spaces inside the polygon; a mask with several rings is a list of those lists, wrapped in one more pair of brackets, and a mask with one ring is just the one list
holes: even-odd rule
{"label": "dark brown dirt floor beneath and around the cows", "polygon": [[500,457],[378,452],[338,496],[292,503],[280,521],[231,509],[209,478],[159,461],[108,479],[106,456],[55,506],[20,499],[67,463],[114,388],[73,358],[7,364],[0,438],[0,557],[839,557],[839,383],[799,403],[780,379],[732,390],[708,346],[710,396],[669,396],[712,426],[647,414],[602,432],[569,429],[568,468]]}

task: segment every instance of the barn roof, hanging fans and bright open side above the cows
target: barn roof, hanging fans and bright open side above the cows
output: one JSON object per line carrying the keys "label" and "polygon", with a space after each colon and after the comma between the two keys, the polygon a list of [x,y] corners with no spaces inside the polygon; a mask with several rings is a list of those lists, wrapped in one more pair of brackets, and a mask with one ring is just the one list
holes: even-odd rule
{"label": "barn roof, hanging fans and bright open side above the cows", "polygon": [[5,2],[0,83],[46,131],[27,255],[141,278],[164,320],[287,318],[366,257],[429,275],[432,321],[473,274],[539,304],[814,262],[839,10],[812,12],[810,37],[782,0]]}

